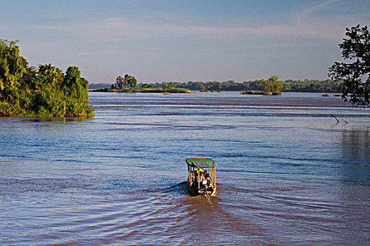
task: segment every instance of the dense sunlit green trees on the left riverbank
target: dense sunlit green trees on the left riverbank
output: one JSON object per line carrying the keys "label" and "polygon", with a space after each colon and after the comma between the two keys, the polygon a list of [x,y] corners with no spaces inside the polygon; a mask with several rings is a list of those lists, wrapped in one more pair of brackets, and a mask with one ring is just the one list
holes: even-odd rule
{"label": "dense sunlit green trees on the left riverbank", "polygon": [[0,39],[0,117],[87,117],[89,82],[78,67],[30,67],[17,41]]}

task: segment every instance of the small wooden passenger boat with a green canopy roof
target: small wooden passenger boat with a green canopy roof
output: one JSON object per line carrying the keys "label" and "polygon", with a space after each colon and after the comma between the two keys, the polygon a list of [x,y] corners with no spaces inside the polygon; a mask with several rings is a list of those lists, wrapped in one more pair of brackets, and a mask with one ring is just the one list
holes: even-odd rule
{"label": "small wooden passenger boat with a green canopy roof", "polygon": [[187,164],[187,189],[192,195],[216,195],[217,163],[208,157],[185,159]]}

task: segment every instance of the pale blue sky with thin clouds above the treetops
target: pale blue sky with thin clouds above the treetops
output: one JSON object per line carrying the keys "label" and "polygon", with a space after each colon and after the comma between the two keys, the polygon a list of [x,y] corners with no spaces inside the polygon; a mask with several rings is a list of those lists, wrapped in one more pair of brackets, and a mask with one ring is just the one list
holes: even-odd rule
{"label": "pale blue sky with thin clouds above the treetops", "polygon": [[369,0],[1,0],[0,39],[30,65],[77,65],[90,84],[328,79]]}

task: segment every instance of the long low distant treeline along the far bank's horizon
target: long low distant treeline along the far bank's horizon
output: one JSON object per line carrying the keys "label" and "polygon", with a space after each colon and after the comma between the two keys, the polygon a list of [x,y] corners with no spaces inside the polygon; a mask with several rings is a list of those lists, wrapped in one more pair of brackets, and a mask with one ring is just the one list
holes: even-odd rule
{"label": "long low distant treeline along the far bank's horizon", "polygon": [[[340,92],[340,83],[326,80],[292,80],[288,79],[281,82],[280,91],[291,92]],[[226,82],[162,82],[153,84],[154,88],[185,88],[193,91],[264,91],[264,79],[235,82],[228,80]]]}

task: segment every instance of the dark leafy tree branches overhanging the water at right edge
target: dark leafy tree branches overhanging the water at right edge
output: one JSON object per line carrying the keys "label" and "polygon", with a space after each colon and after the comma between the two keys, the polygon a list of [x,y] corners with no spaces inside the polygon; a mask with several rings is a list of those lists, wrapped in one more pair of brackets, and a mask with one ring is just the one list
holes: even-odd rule
{"label": "dark leafy tree branches overhanging the water at right edge", "polygon": [[[335,62],[328,75],[340,82],[344,101],[352,105],[368,106],[370,103],[370,34],[366,26],[346,28],[343,43],[339,44],[344,60],[352,63]],[[348,100],[347,97],[350,97]]]}

